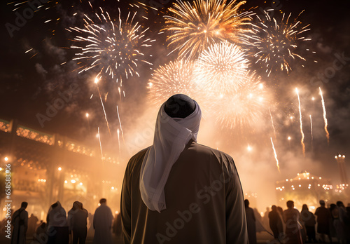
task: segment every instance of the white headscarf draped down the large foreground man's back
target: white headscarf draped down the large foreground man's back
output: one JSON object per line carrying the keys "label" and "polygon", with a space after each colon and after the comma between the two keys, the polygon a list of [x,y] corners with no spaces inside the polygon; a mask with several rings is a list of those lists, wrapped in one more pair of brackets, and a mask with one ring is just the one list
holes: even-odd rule
{"label": "white headscarf draped down the large foreground man's back", "polygon": [[197,142],[202,112],[195,102],[195,111],[186,118],[172,118],[160,107],[155,123],[153,145],[146,151],[140,172],[141,198],[150,210],[166,208],[164,187],[186,144]]}

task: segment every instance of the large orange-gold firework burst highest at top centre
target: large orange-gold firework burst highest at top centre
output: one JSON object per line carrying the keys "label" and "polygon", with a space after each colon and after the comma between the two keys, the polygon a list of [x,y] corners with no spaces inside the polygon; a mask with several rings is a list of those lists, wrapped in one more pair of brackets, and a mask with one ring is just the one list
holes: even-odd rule
{"label": "large orange-gold firework burst highest at top centre", "polygon": [[[172,52],[179,57],[196,58],[202,50],[216,41],[241,43],[251,33],[251,12],[241,13],[245,1],[195,0],[193,4],[181,0],[169,8],[165,16],[165,31]],[[172,53],[171,52],[171,53]]]}

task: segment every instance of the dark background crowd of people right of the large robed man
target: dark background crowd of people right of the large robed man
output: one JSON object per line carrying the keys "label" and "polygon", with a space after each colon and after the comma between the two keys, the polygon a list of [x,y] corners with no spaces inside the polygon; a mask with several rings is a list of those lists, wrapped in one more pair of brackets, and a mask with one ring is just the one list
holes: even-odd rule
{"label": "dark background crowd of people right of the large robed man", "polygon": [[[258,211],[255,211],[255,217],[251,217],[246,200],[249,242],[257,241],[255,233],[249,231],[256,227],[256,231],[266,231],[273,236],[274,240],[270,243],[350,243],[350,203],[348,207],[345,207],[342,201],[330,203],[328,207],[323,200],[319,203],[320,206],[315,212],[311,212],[306,204],[302,205],[299,211],[294,207],[293,201],[287,201],[286,210],[272,205],[271,211],[265,212],[263,217]],[[258,218],[261,218],[261,221],[255,222]],[[259,224],[264,228],[259,229]]]}

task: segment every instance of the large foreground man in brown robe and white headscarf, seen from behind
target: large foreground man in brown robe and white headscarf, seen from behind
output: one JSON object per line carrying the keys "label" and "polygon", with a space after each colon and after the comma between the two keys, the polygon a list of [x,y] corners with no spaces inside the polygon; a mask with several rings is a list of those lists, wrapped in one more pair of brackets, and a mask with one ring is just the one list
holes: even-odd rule
{"label": "large foreground man in brown robe and white headscarf, seen from behind", "polygon": [[121,196],[124,243],[246,244],[246,214],[231,156],[197,144],[200,106],[173,95],[153,144],[133,156]]}

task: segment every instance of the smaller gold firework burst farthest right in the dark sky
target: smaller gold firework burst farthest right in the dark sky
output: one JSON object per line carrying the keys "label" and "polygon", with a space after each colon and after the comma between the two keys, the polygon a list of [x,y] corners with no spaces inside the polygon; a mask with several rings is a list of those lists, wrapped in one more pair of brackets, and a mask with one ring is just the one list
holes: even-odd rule
{"label": "smaller gold firework burst farthest right in the dark sky", "polygon": [[251,46],[248,46],[248,49],[253,50],[255,63],[265,69],[267,76],[279,69],[288,73],[291,70],[291,62],[305,60],[298,54],[298,43],[311,40],[302,36],[304,32],[309,31],[309,25],[302,27],[297,18],[291,18],[291,13],[288,17],[283,13],[281,19],[271,18],[267,12],[265,18],[256,16],[258,27],[254,28],[256,34],[251,35]]}

